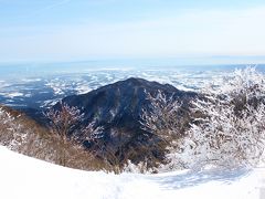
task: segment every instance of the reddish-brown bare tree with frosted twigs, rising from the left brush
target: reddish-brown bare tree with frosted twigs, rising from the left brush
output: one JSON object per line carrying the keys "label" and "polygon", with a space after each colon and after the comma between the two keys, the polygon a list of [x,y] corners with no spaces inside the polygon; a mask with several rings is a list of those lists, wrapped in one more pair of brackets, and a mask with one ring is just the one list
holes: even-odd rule
{"label": "reddish-brown bare tree with frosted twigs, rising from the left brush", "polygon": [[[50,121],[50,132],[55,139],[60,139],[56,150],[60,159],[60,165],[71,166],[75,168],[89,168],[89,160],[96,160],[96,154],[88,151],[83,142],[94,142],[98,138],[98,134],[102,133],[102,127],[95,127],[95,122],[89,123],[86,126],[81,126],[84,119],[84,115],[75,106],[70,106],[66,103],[60,102],[57,109],[51,108],[45,116]],[[68,150],[73,148],[73,150]],[[87,165],[88,164],[88,165]],[[106,167],[106,163],[98,165],[98,168]],[[106,169],[110,170],[112,168]]]}

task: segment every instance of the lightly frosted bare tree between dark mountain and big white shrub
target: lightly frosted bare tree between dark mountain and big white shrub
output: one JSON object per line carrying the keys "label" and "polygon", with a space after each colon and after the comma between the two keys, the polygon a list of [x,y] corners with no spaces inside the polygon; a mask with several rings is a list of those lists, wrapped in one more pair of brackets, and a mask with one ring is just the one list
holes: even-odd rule
{"label": "lightly frosted bare tree between dark mountain and big white shrub", "polygon": [[[155,96],[149,94],[147,100],[150,104],[147,109],[142,109],[140,124],[141,128],[156,140],[152,147],[142,146],[141,151],[149,154],[150,157],[153,156],[153,150],[163,156],[169,149],[176,147],[176,142],[180,137],[184,136],[184,130],[189,126],[189,114],[173,95],[168,96],[159,91]],[[147,160],[150,164],[140,163],[135,168],[156,171],[161,163],[166,164],[165,159],[158,160],[155,157]],[[131,163],[128,166],[131,167]]]}

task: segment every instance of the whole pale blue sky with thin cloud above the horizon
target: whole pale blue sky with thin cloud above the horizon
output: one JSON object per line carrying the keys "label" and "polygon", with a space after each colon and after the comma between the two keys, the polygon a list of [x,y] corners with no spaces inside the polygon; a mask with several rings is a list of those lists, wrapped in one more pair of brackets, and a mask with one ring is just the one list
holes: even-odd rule
{"label": "whole pale blue sky with thin cloud above the horizon", "polygon": [[265,62],[263,0],[0,0],[0,62]]}

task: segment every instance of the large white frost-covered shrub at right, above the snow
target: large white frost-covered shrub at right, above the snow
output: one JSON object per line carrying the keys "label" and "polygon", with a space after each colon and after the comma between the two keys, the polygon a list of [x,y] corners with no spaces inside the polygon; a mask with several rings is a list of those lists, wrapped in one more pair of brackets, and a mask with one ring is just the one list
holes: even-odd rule
{"label": "large white frost-covered shrub at right, above the snow", "polygon": [[265,144],[264,75],[253,67],[237,70],[203,94],[193,102],[186,138],[171,147],[168,168],[258,164]]}

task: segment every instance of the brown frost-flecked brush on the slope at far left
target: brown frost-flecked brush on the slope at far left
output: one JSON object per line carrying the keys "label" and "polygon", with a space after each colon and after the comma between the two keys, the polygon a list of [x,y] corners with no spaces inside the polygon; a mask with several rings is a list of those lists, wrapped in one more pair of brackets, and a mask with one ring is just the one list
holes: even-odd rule
{"label": "brown frost-flecked brush on the slope at far left", "polygon": [[[52,129],[55,130],[55,127]],[[46,129],[6,107],[0,107],[0,144],[14,151],[57,165],[84,170],[104,169],[103,164],[82,145],[66,140],[63,134]]]}

